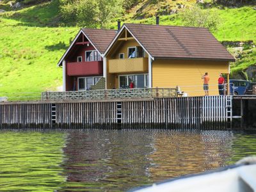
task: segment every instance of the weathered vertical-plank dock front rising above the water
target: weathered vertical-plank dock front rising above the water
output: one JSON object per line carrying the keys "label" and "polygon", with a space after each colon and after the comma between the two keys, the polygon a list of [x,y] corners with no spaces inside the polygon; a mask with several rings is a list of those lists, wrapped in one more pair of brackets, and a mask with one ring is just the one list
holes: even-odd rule
{"label": "weathered vertical-plank dock front rising above the water", "polygon": [[231,117],[231,96],[0,104],[1,128],[223,129]]}

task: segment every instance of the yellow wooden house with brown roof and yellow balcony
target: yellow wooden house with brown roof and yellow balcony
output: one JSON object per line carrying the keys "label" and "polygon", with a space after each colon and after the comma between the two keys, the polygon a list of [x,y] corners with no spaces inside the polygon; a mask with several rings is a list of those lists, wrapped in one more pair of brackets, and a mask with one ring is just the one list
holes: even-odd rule
{"label": "yellow wooden house with brown roof and yellow balcony", "polygon": [[104,52],[106,88],[175,88],[188,96],[218,95],[218,77],[229,74],[232,55],[205,28],[124,24]]}

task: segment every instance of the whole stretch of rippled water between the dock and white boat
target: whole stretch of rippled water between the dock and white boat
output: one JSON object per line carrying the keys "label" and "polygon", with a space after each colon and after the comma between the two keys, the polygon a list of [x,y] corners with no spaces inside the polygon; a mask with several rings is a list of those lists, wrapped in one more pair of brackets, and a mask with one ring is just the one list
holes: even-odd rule
{"label": "whole stretch of rippled water between the dock and white boat", "polygon": [[232,131],[0,131],[0,191],[125,191],[256,155]]}

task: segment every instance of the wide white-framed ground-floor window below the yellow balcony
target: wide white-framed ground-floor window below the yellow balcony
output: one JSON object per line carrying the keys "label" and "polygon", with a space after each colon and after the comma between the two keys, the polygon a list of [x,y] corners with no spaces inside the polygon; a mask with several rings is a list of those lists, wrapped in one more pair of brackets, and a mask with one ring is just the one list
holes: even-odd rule
{"label": "wide white-framed ground-floor window below the yellow balcony", "polygon": [[129,84],[132,81],[134,83],[134,88],[147,88],[148,74],[119,76],[119,88],[129,88]]}

